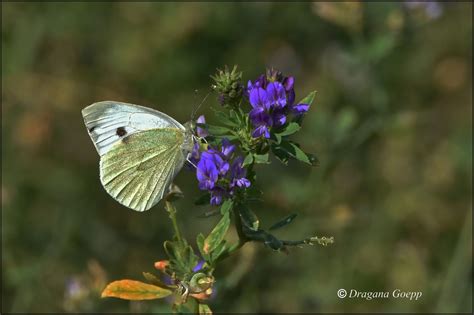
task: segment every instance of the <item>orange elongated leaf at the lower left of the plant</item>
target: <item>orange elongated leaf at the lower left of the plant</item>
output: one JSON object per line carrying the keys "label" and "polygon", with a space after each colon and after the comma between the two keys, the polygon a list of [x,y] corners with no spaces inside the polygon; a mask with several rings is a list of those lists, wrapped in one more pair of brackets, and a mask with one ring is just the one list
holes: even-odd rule
{"label": "orange elongated leaf at the lower left of the plant", "polygon": [[102,297],[116,297],[124,300],[152,300],[167,297],[172,292],[156,285],[135,281],[119,280],[111,282],[102,291]]}

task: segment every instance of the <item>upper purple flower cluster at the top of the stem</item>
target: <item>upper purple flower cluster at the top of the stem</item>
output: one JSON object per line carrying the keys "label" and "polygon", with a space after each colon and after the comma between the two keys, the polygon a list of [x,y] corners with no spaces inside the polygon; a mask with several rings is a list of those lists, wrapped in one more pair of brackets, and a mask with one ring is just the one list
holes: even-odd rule
{"label": "upper purple flower cluster at the top of the stem", "polygon": [[309,104],[294,103],[294,83],[293,77],[282,77],[273,71],[248,82],[246,95],[252,105],[249,116],[255,127],[254,138],[270,138],[270,129],[283,126],[290,113],[299,116],[308,111]]}

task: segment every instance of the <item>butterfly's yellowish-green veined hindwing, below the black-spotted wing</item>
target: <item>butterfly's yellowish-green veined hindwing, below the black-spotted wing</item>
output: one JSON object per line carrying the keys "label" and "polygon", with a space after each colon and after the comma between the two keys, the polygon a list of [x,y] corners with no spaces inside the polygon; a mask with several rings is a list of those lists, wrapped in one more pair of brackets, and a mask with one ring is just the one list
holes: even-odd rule
{"label": "butterfly's yellowish-green veined hindwing, below the black-spotted wing", "polygon": [[158,203],[186,157],[178,128],[136,132],[113,144],[100,159],[100,180],[118,202],[136,211]]}

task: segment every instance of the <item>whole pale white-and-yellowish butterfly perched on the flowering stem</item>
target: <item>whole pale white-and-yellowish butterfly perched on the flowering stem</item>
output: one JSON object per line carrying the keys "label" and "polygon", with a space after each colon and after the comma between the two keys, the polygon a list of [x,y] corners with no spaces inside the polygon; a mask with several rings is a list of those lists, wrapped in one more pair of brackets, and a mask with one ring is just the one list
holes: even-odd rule
{"label": "whole pale white-and-yellowish butterfly perched on the flowering stem", "polygon": [[157,204],[194,144],[192,123],[157,110],[113,101],[82,110],[100,155],[100,181],[122,205],[146,211]]}

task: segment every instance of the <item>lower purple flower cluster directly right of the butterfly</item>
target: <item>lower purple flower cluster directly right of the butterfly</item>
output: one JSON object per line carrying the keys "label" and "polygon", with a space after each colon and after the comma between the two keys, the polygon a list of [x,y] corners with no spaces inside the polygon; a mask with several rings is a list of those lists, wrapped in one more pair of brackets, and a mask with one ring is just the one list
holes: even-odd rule
{"label": "lower purple flower cluster directly right of the butterfly", "polygon": [[223,139],[221,148],[209,148],[199,153],[193,150],[193,158],[198,160],[196,177],[199,189],[211,193],[211,205],[220,205],[224,197],[234,194],[235,189],[250,186],[242,167],[243,158],[234,157],[235,145]]}

